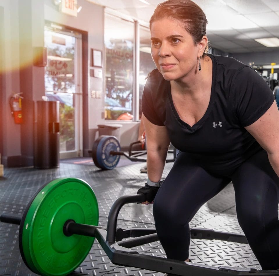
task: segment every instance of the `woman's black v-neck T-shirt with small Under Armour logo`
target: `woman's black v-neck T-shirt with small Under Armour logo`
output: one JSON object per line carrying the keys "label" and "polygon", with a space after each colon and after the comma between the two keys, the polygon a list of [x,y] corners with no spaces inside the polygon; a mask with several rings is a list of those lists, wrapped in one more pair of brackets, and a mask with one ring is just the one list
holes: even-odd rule
{"label": "woman's black v-neck T-shirt with small Under Armour logo", "polygon": [[166,126],[171,143],[192,154],[201,166],[230,174],[261,146],[247,132],[275,98],[251,67],[226,56],[209,55],[212,86],[208,108],[192,127],[180,119],[172,101],[170,82],[158,69],[149,74],[142,96],[142,112],[153,124]]}

